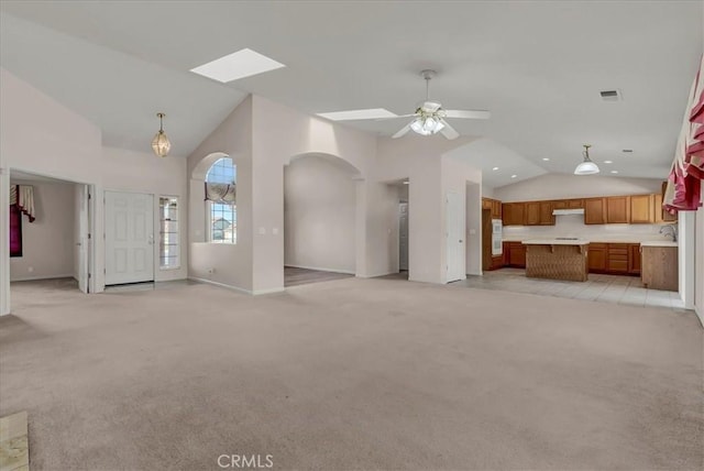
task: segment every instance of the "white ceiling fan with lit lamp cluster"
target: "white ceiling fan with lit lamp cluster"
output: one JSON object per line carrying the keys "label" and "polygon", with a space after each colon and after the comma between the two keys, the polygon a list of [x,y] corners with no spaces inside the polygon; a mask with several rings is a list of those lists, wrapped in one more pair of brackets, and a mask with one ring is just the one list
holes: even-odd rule
{"label": "white ceiling fan with lit lamp cluster", "polygon": [[438,101],[430,100],[430,80],[436,76],[435,70],[425,69],[420,76],[426,80],[426,100],[418,106],[413,114],[403,114],[394,118],[415,117],[413,121],[400,129],[392,139],[406,135],[408,131],[415,131],[421,135],[431,135],[440,132],[447,139],[457,139],[460,133],[446,121],[446,118],[461,119],[488,119],[491,113],[485,110],[446,110]]}

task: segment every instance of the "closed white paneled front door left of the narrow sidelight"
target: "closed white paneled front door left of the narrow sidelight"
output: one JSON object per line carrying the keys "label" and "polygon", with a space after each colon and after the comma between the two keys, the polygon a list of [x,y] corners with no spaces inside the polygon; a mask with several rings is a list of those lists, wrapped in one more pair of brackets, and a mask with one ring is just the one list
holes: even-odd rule
{"label": "closed white paneled front door left of the narrow sidelight", "polygon": [[106,285],[154,280],[154,196],[106,191]]}

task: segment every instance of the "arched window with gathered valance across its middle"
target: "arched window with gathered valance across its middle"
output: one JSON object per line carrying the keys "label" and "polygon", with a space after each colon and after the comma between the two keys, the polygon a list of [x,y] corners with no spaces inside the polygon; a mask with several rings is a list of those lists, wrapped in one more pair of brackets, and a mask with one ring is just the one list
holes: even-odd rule
{"label": "arched window with gathered valance across its middle", "polygon": [[[238,241],[238,210],[231,198],[211,196],[208,184],[234,185],[238,169],[232,158],[222,157],[210,166],[206,174],[206,213],[208,215],[208,241],[217,243],[237,243]],[[222,194],[224,195],[224,193]]]}

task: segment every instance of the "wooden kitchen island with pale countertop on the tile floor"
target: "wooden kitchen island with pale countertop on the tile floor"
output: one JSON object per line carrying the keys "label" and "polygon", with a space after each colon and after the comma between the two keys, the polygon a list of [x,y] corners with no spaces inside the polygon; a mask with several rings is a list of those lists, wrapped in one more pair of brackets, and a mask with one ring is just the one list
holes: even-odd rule
{"label": "wooden kitchen island with pale countertop on the tile floor", "polygon": [[586,282],[590,242],[583,239],[525,240],[526,276]]}

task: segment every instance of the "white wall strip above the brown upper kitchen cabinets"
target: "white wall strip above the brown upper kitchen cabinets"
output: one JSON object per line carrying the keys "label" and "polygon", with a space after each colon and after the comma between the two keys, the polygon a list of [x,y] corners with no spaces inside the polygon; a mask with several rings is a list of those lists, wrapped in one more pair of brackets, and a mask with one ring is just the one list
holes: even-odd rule
{"label": "white wall strip above the brown upper kitchen cabinets", "polygon": [[660,193],[657,178],[620,178],[602,175],[578,176],[546,174],[512,185],[494,188],[502,202],[541,199],[585,198],[590,196],[642,195]]}

